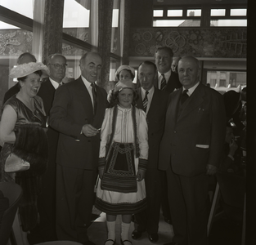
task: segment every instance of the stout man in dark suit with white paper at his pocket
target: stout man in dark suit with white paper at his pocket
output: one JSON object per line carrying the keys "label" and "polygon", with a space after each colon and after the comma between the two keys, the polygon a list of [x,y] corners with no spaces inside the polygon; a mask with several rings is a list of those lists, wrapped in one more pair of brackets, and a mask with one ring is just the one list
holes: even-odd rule
{"label": "stout man in dark suit with white paper at his pocket", "polygon": [[216,172],[225,140],[225,108],[218,91],[200,83],[200,62],[178,62],[182,88],[169,96],[159,169],[166,171],[173,243],[207,244],[209,176]]}

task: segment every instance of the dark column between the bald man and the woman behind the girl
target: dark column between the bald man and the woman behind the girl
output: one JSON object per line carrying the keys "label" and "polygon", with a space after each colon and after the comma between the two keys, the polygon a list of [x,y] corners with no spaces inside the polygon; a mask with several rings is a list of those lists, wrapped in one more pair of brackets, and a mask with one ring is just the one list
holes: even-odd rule
{"label": "dark column between the bald man and the woman behind the girl", "polygon": [[102,57],[101,78],[97,85],[104,87],[110,80],[110,49],[112,29],[113,0],[99,0],[99,45],[98,52]]}

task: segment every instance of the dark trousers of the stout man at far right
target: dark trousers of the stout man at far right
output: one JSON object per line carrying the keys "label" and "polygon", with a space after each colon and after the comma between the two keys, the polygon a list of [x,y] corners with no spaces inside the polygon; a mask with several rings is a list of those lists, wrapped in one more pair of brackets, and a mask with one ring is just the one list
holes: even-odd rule
{"label": "dark trousers of the stout man at far right", "polygon": [[186,177],[166,171],[168,198],[173,221],[173,242],[181,245],[206,245],[209,176]]}

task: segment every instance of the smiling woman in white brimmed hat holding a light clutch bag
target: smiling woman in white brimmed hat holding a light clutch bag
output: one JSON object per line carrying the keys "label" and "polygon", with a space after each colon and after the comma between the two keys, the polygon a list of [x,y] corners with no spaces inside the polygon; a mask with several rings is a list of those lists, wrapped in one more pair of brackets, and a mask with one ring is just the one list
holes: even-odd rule
{"label": "smiling woman in white brimmed hat holding a light clutch bag", "polygon": [[[42,127],[46,114],[43,100],[37,96],[43,71],[48,73],[40,62],[11,69],[10,77],[18,79],[20,91],[3,105],[0,124],[0,181],[16,182],[23,189],[19,211],[24,231],[38,223],[40,176],[47,168],[47,136]],[[13,161],[10,168],[7,159],[13,156],[20,160]]]}

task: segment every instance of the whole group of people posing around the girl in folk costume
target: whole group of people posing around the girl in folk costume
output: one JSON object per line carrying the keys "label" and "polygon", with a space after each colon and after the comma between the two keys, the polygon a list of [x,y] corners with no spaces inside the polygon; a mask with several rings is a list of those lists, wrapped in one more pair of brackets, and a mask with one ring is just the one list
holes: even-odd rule
{"label": "whole group of people posing around the girl in folk costume", "polygon": [[[3,105],[0,179],[27,180],[29,174],[42,183],[34,186],[30,209],[40,220],[24,230],[33,231],[38,223],[46,241],[94,244],[88,226],[95,205],[106,212],[106,245],[115,244],[117,215],[122,215],[122,245],[132,244],[132,215],[132,239],[147,232],[156,243],[165,196],[174,232],[167,244],[207,244],[209,176],[220,164],[226,114],[222,95],[200,82],[200,61],[173,59],[171,48],[159,47],[155,63],[138,66],[137,88],[134,69],[122,65],[109,95],[97,86],[99,54],[84,54],[81,76],[61,86],[66,65],[65,56],[54,54],[46,65],[32,59],[11,69],[19,85]],[[24,124],[43,128],[47,142],[34,145],[47,149],[48,161],[29,158],[29,171],[6,173],[5,159]]]}

